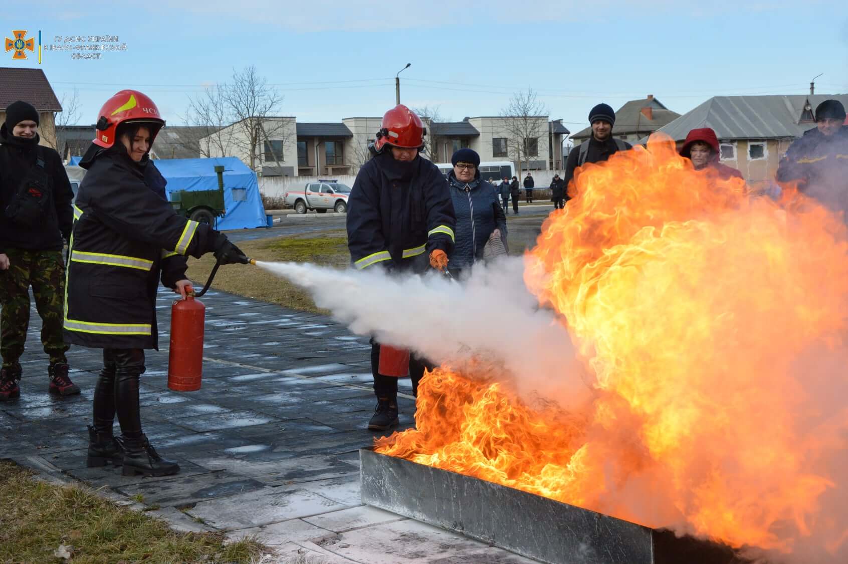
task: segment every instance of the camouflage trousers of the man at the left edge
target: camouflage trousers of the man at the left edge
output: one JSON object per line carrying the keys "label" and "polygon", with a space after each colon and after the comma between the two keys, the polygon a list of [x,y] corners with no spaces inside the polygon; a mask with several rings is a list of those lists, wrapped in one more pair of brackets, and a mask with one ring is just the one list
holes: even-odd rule
{"label": "camouflage trousers of the man at the left edge", "polygon": [[17,364],[24,354],[30,325],[30,286],[36,310],[42,317],[42,345],[50,363],[67,362],[64,352],[64,260],[61,251],[28,251],[7,248],[9,267],[0,271],[0,355],[3,367]]}

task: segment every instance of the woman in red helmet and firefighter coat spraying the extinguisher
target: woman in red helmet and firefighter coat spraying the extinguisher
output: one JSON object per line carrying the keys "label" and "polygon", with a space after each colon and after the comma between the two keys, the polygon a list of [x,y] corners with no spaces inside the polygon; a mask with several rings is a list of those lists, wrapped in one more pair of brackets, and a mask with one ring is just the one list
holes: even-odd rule
{"label": "woman in red helmet and firefighter coat spraying the extinguisher", "polygon": [[[176,462],[159,456],[142,433],[139,376],[144,349],[157,349],[159,279],[185,294],[186,256],[214,252],[222,264],[246,262],[223,233],[176,215],[149,152],[165,120],[153,100],[123,90],[103,104],[74,206],[64,335],[103,349],[94,389],[88,466],[123,464],[125,475],[166,476]],[[122,437],[114,438],[117,413]]]}

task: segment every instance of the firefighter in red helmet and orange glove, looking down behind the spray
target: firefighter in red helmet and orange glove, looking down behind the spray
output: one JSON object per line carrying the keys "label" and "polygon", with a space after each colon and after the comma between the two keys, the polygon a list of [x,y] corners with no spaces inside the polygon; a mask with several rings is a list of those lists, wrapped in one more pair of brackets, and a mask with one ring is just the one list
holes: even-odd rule
{"label": "firefighter in red helmet and orange glove, looking down behind the spray", "polygon": [[[422,273],[444,271],[454,247],[456,218],[444,176],[421,158],[426,131],[421,119],[399,104],[382,117],[373,156],[359,171],[349,197],[348,247],[357,269]],[[398,424],[398,379],[379,373],[380,344],[371,341],[371,373],[377,409],[368,428]],[[425,362],[410,358],[413,393]]]}

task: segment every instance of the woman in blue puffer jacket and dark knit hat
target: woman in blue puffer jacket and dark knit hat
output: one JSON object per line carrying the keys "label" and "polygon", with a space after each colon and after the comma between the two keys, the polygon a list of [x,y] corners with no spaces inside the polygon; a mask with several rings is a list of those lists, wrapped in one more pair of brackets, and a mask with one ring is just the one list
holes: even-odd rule
{"label": "woman in blue puffer jacket and dark knit hat", "polygon": [[448,255],[448,268],[454,276],[460,276],[462,272],[467,275],[471,266],[483,259],[490,239],[493,243],[489,248],[506,248],[506,215],[494,187],[480,178],[480,155],[476,151],[460,148],[450,162],[454,165],[448,183],[456,215],[456,241]]}

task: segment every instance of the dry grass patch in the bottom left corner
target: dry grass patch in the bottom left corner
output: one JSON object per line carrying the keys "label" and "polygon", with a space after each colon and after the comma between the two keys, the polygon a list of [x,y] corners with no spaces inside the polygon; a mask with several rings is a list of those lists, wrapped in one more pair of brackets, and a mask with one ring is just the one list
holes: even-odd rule
{"label": "dry grass patch in the bottom left corner", "polygon": [[2,562],[57,561],[60,545],[77,564],[250,562],[266,552],[253,538],[225,544],[223,534],[177,533],[91,490],[40,482],[9,462],[0,462],[0,508]]}

